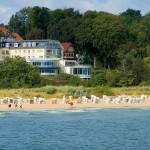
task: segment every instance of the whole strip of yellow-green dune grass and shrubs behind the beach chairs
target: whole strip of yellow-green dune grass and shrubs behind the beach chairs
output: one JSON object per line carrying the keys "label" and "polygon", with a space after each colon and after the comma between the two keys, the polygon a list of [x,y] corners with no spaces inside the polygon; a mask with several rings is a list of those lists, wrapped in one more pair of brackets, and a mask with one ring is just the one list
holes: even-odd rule
{"label": "whole strip of yellow-green dune grass and shrubs behind the beach chairs", "polygon": [[73,95],[74,97],[86,95],[90,96],[95,94],[99,97],[102,95],[135,95],[142,94],[150,96],[150,86],[147,87],[122,87],[122,88],[109,88],[109,87],[90,87],[85,88],[82,86],[46,86],[41,88],[20,88],[20,89],[0,89],[0,98],[21,96],[23,98],[32,99],[34,96],[49,98],[62,98],[63,95]]}

